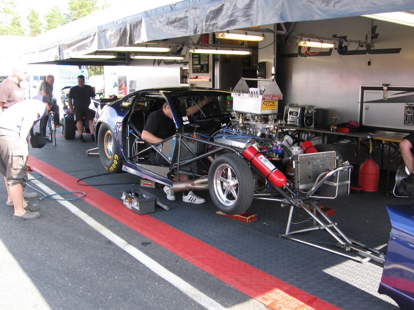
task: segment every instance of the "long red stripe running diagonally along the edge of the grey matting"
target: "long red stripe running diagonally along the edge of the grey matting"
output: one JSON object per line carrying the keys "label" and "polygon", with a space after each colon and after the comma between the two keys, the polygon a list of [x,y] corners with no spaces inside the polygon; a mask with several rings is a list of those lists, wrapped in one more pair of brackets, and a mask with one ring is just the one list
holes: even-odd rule
{"label": "long red stripe running diagonally along the edge of the grey matting", "polygon": [[76,178],[33,156],[29,162],[51,181],[68,191],[85,192],[83,199],[91,205],[272,309],[341,310],[149,215],[137,215],[120,200],[77,184]]}

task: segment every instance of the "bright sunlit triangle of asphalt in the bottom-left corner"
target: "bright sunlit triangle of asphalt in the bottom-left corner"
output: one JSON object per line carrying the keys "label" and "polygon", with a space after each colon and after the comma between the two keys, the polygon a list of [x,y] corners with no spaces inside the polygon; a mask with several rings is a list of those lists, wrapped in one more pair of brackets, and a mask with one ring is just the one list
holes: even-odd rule
{"label": "bright sunlit triangle of asphalt in the bottom-left corner", "polygon": [[36,285],[0,240],[0,309],[51,310]]}

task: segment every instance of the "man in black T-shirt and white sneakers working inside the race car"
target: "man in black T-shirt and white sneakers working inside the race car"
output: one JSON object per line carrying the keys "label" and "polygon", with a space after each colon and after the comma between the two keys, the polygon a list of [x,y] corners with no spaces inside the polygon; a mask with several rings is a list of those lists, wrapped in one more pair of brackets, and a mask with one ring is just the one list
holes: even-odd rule
{"label": "man in black T-shirt and white sneakers working inside the race car", "polygon": [[[212,98],[206,97],[199,103],[185,109],[187,116],[193,115],[201,107],[210,102]],[[164,103],[162,108],[149,114],[141,138],[147,141],[149,145],[156,144],[164,139],[171,137],[176,133],[176,124],[173,121],[168,103]],[[153,148],[149,149],[149,160],[153,165],[169,165],[169,163]],[[173,181],[186,181],[187,174],[178,174],[173,177]],[[167,194],[168,200],[176,200],[172,187],[164,186],[164,193]],[[183,194],[183,201],[187,203],[204,203],[206,200],[195,195],[190,191],[187,195]]]}

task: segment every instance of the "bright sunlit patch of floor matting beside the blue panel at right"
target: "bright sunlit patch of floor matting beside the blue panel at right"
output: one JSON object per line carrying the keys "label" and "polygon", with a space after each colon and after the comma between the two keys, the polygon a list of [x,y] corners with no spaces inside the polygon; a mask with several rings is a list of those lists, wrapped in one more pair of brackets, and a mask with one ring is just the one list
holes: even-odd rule
{"label": "bright sunlit patch of floor matting beside the blue panel at right", "polygon": [[388,303],[397,305],[397,303],[387,295],[378,293],[378,286],[381,281],[381,275],[383,274],[383,267],[371,264],[370,262],[361,264],[354,260],[347,260],[340,264],[325,268],[322,271],[377,298],[385,300]]}

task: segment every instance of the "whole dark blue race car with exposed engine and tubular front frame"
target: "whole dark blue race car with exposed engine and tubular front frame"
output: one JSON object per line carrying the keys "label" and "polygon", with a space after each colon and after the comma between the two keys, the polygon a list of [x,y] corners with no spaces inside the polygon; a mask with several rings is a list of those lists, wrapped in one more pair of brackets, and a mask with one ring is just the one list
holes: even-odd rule
{"label": "whole dark blue race car with exposed engine and tubular front frame", "polygon": [[[213,88],[166,87],[137,91],[112,103],[99,104],[94,136],[108,172],[126,171],[174,192],[208,190],[223,213],[245,212],[253,198],[290,207],[284,236],[359,262],[383,263],[382,252],[351,240],[321,210],[319,201],[349,194],[352,166],[334,146],[295,141],[281,130],[277,116],[276,82],[263,91],[241,79],[232,92]],[[198,112],[185,109],[212,98]],[[150,113],[168,103],[176,133],[154,145],[141,137]],[[298,146],[294,145],[294,142]],[[302,143],[302,144],[301,144]],[[301,144],[301,145],[300,145]],[[300,145],[300,146],[299,146]],[[149,149],[167,165],[152,165]],[[187,174],[188,181],[172,181],[172,174]],[[294,210],[305,212],[313,225],[293,231]],[[296,224],[296,223],[295,223]],[[305,223],[306,224],[306,223]],[[291,237],[324,231],[345,253],[312,241]],[[349,255],[349,252],[362,256]]]}

